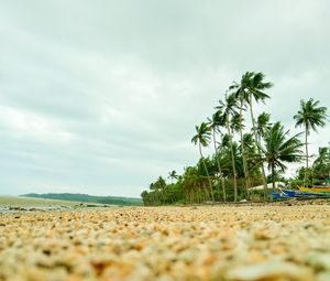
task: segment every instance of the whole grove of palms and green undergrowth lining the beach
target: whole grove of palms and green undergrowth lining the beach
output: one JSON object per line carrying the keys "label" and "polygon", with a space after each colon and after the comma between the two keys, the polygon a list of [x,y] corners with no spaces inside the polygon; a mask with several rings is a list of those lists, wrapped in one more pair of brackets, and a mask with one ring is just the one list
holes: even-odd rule
{"label": "whole grove of palms and green undergrowth lining the beach", "polygon": [[[196,134],[191,142],[198,147],[200,155],[197,165],[186,167],[182,176],[175,171],[169,173],[172,183],[168,191],[172,188],[180,194],[172,201],[185,196],[186,202],[227,202],[228,196],[232,195],[237,202],[239,194],[240,198],[243,195],[250,199],[251,187],[256,183],[262,183],[263,198],[266,199],[270,176],[266,175],[265,165],[274,188],[278,172],[287,169],[286,163],[306,159],[305,171],[308,171],[308,136],[318,127],[326,126],[327,108],[319,107],[319,101],[314,99],[301,100],[300,110],[294,116],[296,127],[302,126],[305,129],[305,142],[301,142],[301,133],[290,137],[280,122],[270,121],[270,114],[263,112],[255,118],[254,105],[270,99],[265,91],[271,87],[273,84],[265,82],[263,73],[253,72],[245,73],[240,83],[234,82],[229,87],[212,116],[195,127]],[[245,121],[248,117],[251,120],[250,128]],[[211,143],[215,153],[205,158],[204,149]],[[304,145],[305,154],[301,150]],[[306,180],[307,172],[304,185]],[[161,198],[156,205],[166,204],[167,185],[164,186],[163,190],[153,191]],[[232,194],[229,194],[231,191]],[[150,194],[144,193],[144,197],[147,196]]]}

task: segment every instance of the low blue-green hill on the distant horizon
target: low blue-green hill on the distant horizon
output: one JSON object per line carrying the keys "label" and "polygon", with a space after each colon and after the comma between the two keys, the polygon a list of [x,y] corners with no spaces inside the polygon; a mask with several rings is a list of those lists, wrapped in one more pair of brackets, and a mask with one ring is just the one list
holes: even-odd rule
{"label": "low blue-green hill on the distant horizon", "polygon": [[122,206],[142,206],[141,198],[121,197],[121,196],[95,196],[89,194],[75,194],[75,193],[28,193],[20,195],[31,198],[44,198],[44,199],[58,199],[58,201],[75,201],[75,202],[90,202],[108,205],[122,205]]}

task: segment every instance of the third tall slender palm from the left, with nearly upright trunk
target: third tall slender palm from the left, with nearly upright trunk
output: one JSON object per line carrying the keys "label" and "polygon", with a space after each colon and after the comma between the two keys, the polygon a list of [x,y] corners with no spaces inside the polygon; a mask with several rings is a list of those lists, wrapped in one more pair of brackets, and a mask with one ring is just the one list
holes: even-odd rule
{"label": "third tall slender palm from the left, with nearly upright trunk", "polygon": [[237,98],[234,94],[226,94],[226,101],[219,100],[220,106],[216,107],[217,109],[222,110],[222,117],[224,127],[227,128],[227,133],[230,138],[230,151],[231,151],[231,162],[232,162],[232,176],[233,176],[233,187],[234,187],[234,202],[238,201],[238,174],[237,174],[237,167],[235,167],[235,161],[234,161],[234,153],[233,153],[233,136],[231,130],[231,118],[237,114]]}

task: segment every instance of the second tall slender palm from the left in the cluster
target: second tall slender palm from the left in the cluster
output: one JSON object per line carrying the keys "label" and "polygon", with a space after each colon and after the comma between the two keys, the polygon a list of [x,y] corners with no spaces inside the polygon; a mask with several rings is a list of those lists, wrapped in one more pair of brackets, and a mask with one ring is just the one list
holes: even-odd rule
{"label": "second tall slender palm from the left in the cluster", "polygon": [[215,156],[216,156],[216,161],[217,161],[217,165],[218,165],[218,172],[219,172],[219,177],[220,177],[220,182],[221,182],[221,187],[222,187],[222,199],[223,202],[227,201],[226,198],[226,186],[224,186],[224,177],[222,174],[222,170],[221,170],[221,164],[220,164],[220,160],[218,158],[218,147],[217,147],[217,139],[216,139],[216,132],[220,132],[220,127],[223,126],[223,120],[222,120],[222,112],[221,110],[217,110],[213,115],[212,115],[212,119],[208,118],[209,122],[209,128],[212,131],[212,138],[213,138],[213,145],[215,145]]}

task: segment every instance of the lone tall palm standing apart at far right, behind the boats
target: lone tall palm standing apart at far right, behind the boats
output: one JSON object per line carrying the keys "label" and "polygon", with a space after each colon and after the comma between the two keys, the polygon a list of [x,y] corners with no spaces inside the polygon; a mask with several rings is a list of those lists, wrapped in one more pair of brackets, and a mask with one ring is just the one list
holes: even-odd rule
{"label": "lone tall palm standing apart at far right, behind the boats", "polygon": [[306,151],[306,169],[304,177],[304,186],[307,179],[308,170],[308,141],[307,138],[310,134],[310,130],[317,131],[317,127],[324,127],[327,120],[327,107],[318,107],[319,100],[314,101],[310,98],[308,101],[300,100],[300,110],[294,116],[297,127],[305,127],[305,151]]}

